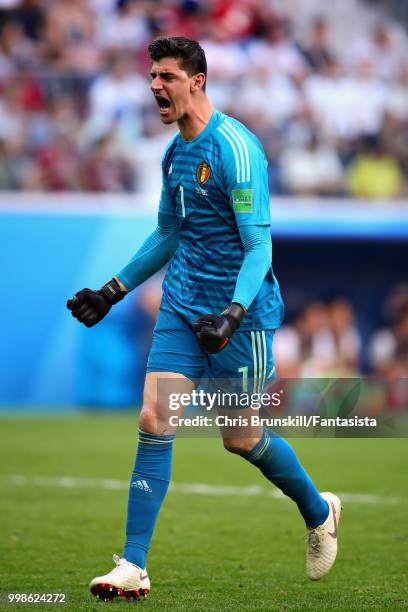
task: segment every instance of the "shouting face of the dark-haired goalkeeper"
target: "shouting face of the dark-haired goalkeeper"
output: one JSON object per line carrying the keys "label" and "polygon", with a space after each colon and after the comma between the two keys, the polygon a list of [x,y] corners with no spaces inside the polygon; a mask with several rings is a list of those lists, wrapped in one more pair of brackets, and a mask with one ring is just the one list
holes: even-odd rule
{"label": "shouting face of the dark-haired goalkeeper", "polygon": [[153,62],[150,71],[150,89],[156,98],[162,123],[174,123],[189,113],[193,95],[202,88],[203,74],[190,77],[179,60],[165,57]]}

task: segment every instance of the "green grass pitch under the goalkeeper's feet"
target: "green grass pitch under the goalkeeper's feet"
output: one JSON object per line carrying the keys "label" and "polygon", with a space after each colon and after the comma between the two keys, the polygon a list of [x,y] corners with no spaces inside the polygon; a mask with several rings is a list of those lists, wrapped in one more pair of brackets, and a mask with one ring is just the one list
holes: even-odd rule
{"label": "green grass pitch under the goalkeeper's feet", "polygon": [[[149,556],[149,599],[94,600],[88,582],[111,569],[113,552],[121,553],[127,500],[125,484],[110,490],[98,482],[128,479],[136,437],[130,414],[0,419],[0,591],[65,591],[75,611],[408,608],[404,439],[292,441],[321,490],[377,496],[344,502],[338,560],[318,583],[305,577],[304,526],[295,505],[270,497],[273,487],[220,440],[178,439],[175,483],[258,485],[264,494],[170,491]],[[39,476],[51,480],[40,483]],[[64,476],[97,482],[57,486]]]}

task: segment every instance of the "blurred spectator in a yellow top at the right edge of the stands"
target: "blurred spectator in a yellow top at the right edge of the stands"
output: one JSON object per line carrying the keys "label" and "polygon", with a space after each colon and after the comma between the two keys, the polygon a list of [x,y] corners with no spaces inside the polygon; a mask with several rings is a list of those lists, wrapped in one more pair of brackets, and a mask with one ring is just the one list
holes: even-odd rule
{"label": "blurred spectator in a yellow top at the right edge of the stands", "polygon": [[366,136],[347,172],[350,193],[357,198],[390,199],[400,196],[404,178],[398,162],[375,136]]}

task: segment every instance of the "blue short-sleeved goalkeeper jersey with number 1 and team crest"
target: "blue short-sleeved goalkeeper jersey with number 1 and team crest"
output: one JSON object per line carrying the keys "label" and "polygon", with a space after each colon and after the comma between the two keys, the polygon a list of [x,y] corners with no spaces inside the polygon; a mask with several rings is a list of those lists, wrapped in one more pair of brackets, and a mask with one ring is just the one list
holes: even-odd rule
{"label": "blue short-sleeved goalkeeper jersey with number 1 and team crest", "polygon": [[[232,301],[244,258],[243,225],[270,225],[267,161],[242,123],[214,111],[205,129],[178,133],[162,161],[160,212],[177,217],[180,240],[164,282],[161,308],[189,321]],[[283,319],[278,282],[267,272],[241,329],[276,329]]]}

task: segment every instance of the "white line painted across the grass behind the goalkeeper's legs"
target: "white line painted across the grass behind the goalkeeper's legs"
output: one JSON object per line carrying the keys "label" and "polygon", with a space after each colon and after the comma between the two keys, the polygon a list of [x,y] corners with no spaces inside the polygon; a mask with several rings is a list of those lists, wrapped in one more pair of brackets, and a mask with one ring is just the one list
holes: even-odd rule
{"label": "white line painted across the grass behind the goalkeeper's legs", "polygon": [[[72,476],[10,476],[8,481],[19,487],[50,487],[59,489],[107,489],[127,490],[129,483],[126,480],[106,478],[76,478]],[[279,489],[268,490],[259,485],[251,487],[234,487],[229,485],[210,485],[204,483],[171,483],[170,491],[173,493],[186,493],[188,495],[225,495],[240,497],[272,497],[273,499],[288,500]],[[399,504],[403,502],[400,497],[388,495],[373,495],[370,493],[338,493],[344,502],[355,504]]]}

